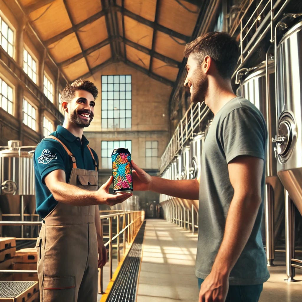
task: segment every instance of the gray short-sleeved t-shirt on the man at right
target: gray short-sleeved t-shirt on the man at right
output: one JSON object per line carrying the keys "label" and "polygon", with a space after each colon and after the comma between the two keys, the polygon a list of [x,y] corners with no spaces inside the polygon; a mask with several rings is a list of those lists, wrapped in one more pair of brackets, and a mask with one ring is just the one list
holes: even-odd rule
{"label": "gray short-sleeved t-shirt on the man at right", "polygon": [[[198,278],[205,279],[209,275],[223,238],[234,194],[227,165],[240,155],[265,160],[266,142],[265,120],[248,100],[233,98],[215,115],[204,141],[201,159],[195,271]],[[248,242],[230,273],[230,285],[261,284],[269,278],[261,236],[265,165],[263,167],[262,204]]]}

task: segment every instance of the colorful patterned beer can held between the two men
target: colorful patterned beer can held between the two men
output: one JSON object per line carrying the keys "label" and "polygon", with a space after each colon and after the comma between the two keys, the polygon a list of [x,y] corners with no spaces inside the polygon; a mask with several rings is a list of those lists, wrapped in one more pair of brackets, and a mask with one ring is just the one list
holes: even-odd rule
{"label": "colorful patterned beer can held between the two men", "polygon": [[111,158],[114,192],[133,191],[130,153],[113,152]]}

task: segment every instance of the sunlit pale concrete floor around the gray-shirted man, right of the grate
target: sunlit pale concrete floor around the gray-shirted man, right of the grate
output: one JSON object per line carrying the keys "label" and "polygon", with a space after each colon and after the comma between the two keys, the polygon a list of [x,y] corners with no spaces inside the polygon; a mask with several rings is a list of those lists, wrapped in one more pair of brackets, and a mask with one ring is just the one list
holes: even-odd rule
{"label": "sunlit pale concrete floor around the gray-shirted man, right of the grate", "polygon": [[[137,302],[197,302],[196,246],[197,235],[165,220],[146,220]],[[276,253],[259,302],[301,302],[302,271],[296,269],[299,282],[285,282],[284,257]]]}

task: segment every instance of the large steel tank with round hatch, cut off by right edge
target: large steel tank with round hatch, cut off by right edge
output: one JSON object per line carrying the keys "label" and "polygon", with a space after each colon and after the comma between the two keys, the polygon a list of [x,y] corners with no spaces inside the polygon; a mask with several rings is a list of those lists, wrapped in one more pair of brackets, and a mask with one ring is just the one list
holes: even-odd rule
{"label": "large steel tank with round hatch, cut off by right edge", "polygon": [[302,21],[277,46],[277,172],[302,215]]}

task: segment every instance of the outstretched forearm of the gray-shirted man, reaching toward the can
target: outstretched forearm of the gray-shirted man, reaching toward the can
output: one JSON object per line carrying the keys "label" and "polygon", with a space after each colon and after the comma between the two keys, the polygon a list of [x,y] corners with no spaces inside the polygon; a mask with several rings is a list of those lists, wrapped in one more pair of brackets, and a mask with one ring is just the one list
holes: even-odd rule
{"label": "outstretched forearm of the gray-shirted man, reaching toward the can", "polygon": [[150,190],[169,196],[198,199],[199,183],[196,179],[169,180],[152,176]]}

